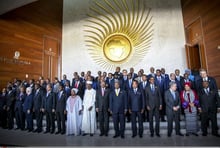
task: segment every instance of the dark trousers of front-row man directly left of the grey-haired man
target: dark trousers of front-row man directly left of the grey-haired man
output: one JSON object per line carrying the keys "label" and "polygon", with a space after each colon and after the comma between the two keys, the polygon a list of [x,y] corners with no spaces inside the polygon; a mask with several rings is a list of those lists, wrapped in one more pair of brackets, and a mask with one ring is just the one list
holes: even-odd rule
{"label": "dark trousers of front-row man directly left of the grey-haired man", "polygon": [[150,126],[150,132],[151,134],[154,134],[154,123],[153,123],[153,117],[155,116],[155,131],[156,134],[160,133],[160,111],[159,108],[153,108],[149,111],[149,118],[150,118],[150,122],[149,122],[149,126]]}

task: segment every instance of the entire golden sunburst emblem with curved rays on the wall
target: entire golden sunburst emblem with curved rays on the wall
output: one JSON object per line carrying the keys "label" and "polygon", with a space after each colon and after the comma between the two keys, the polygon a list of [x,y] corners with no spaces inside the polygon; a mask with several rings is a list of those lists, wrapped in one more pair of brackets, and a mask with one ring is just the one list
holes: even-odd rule
{"label": "entire golden sunburst emblem with curved rays on the wall", "polygon": [[94,1],[88,16],[85,42],[97,64],[113,70],[144,58],[153,36],[152,16],[144,0]]}

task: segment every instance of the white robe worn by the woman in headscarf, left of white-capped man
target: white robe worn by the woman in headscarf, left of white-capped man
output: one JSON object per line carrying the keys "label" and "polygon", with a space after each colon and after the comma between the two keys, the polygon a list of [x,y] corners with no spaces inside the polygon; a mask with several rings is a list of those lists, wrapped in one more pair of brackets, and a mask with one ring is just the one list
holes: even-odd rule
{"label": "white robe worn by the woman in headscarf, left of white-capped man", "polygon": [[66,101],[67,110],[67,126],[66,135],[80,135],[81,125],[82,125],[82,115],[79,115],[79,111],[82,110],[82,99],[76,96],[73,110],[71,112],[70,100],[73,99],[72,96]]}

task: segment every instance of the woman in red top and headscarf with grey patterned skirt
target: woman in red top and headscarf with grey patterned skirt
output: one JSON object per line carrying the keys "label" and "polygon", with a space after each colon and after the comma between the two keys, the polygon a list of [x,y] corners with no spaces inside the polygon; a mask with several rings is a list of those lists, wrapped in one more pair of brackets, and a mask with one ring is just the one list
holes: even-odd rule
{"label": "woman in red top and headscarf with grey patterned skirt", "polygon": [[189,136],[189,134],[198,136],[197,107],[199,101],[196,92],[191,89],[190,82],[184,84],[184,90],[180,93],[180,98],[186,118],[186,136]]}

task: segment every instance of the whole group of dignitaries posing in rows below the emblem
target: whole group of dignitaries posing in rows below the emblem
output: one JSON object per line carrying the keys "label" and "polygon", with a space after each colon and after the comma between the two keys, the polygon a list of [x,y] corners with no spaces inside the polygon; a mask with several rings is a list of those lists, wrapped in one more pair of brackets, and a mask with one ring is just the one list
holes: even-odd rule
{"label": "whole group of dignitaries posing in rows below the emblem", "polygon": [[[99,123],[100,136],[108,136],[109,117],[112,116],[115,135],[124,138],[125,122],[131,122],[132,137],[143,137],[143,122],[149,122],[150,136],[160,137],[160,122],[167,120],[170,137],[175,122],[176,135],[180,132],[180,115],[185,116],[186,136],[198,136],[198,115],[201,117],[202,135],[207,136],[209,120],[212,134],[218,136],[217,112],[220,98],[214,78],[205,69],[193,75],[187,69],[183,76],[176,69],[170,75],[165,69],[150,68],[150,74],[140,69],[136,74],[120,67],[115,73],[91,72],[79,75],[74,72],[72,82],[64,74],[59,81],[54,78],[21,81],[14,79],[0,96],[0,126],[28,132],[42,132],[42,120],[46,116],[44,133],[93,136]],[[165,120],[166,117],[166,120]],[[154,120],[155,118],[155,120]],[[36,129],[33,120],[36,119]],[[57,127],[55,126],[57,122]],[[155,122],[155,127],[154,127]],[[138,127],[137,127],[138,123]],[[57,130],[56,130],[57,128]]]}

